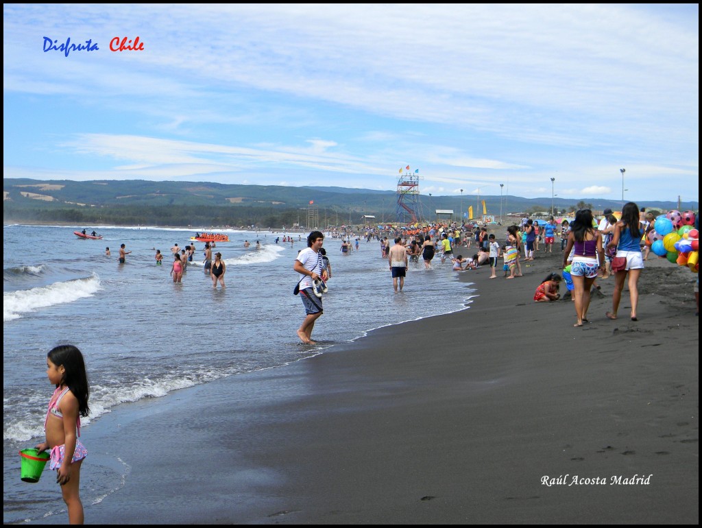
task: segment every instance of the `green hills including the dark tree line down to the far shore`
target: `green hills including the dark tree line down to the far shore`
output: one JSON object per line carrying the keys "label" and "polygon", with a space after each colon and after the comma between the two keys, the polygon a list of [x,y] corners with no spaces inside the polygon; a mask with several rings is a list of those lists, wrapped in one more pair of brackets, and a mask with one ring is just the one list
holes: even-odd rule
{"label": "green hills including the dark tree line down to the far shore", "polygon": [[[397,194],[394,191],[350,189],[345,187],[284,187],[282,185],[225,185],[207,182],[153,182],[146,180],[30,180],[4,178],[4,222],[70,222],[77,224],[148,225],[253,225],[291,226],[306,219],[310,202],[319,209],[323,225],[362,223],[373,215],[377,222],[397,220]],[[502,198],[502,202],[501,202]],[[527,199],[486,195],[489,214],[550,211],[551,198]],[[479,209],[477,196],[420,195],[420,215],[435,220],[437,209],[455,211],[461,206]],[[556,209],[567,211],[578,200],[556,198]],[[590,199],[595,211],[617,210],[621,202]],[[647,202],[640,206],[659,211],[678,209],[674,202]],[[302,211],[305,209],[305,211]],[[698,209],[698,202],[680,204],[681,210]],[[482,211],[481,211],[482,212]]]}

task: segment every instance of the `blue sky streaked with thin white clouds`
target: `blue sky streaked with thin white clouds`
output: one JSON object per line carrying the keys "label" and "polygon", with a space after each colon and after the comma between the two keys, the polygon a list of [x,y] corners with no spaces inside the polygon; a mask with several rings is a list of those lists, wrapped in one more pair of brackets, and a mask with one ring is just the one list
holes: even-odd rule
{"label": "blue sky streaked with thin white clouds", "polygon": [[697,200],[698,15],[5,4],[4,176]]}

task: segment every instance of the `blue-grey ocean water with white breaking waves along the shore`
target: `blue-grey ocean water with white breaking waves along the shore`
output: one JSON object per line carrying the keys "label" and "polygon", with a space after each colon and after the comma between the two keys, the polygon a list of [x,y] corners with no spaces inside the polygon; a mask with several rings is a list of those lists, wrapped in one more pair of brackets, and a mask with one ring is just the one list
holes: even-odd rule
{"label": "blue-grey ocean water with white breaking waves along the shore", "polygon": [[[296,330],[304,317],[292,290],[298,281],[293,260],[306,246],[276,244],[282,233],[224,230],[226,289],[213,289],[204,275],[204,243],[182,284],[169,272],[170,248],[185,249],[194,230],[157,227],[100,227],[102,240],[79,239],[85,226],[7,225],[3,284],[4,522],[41,520],[61,513],[58,496],[37,499],[36,488],[20,481],[18,450],[43,438],[46,405],[53,387],[46,378],[46,353],[72,343],[84,354],[91,383],[91,416],[83,421],[90,450],[90,422],[129,402],[141,404],[174,390],[218,378],[281,367],[324,353],[371,329],[463,310],[476,292],[458,282],[450,263],[425,270],[411,264],[405,290],[395,295],[387,260],[378,242],[361,242],[342,256],[340,240],[324,247],[333,277],[324,296],[324,315],[314,326],[318,345],[301,345]],[[92,227],[88,227],[88,232]],[[244,248],[244,240],[251,247]],[[260,240],[261,249],[255,249]],[[120,244],[132,253],[117,262]],[[105,256],[109,246],[112,256]],[[164,265],[155,265],[155,249]],[[100,475],[100,470],[104,474]],[[81,478],[87,506],[124,484],[128,468],[107,463],[93,482]],[[47,470],[48,471],[48,470]],[[37,484],[39,485],[39,484]],[[65,514],[62,514],[65,515]]]}

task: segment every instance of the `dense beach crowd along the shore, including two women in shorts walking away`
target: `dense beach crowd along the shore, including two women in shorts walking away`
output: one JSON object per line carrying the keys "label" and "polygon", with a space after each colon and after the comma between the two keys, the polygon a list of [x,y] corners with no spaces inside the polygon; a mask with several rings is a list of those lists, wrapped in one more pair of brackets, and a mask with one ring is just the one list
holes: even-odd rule
{"label": "dense beach crowd along the shore, including two women in shorts walking away", "polygon": [[[496,234],[489,233],[484,226],[473,223],[458,225],[433,224],[423,227],[388,228],[383,236],[373,227],[366,227],[366,243],[373,239],[380,242],[380,258],[388,260],[395,293],[404,289],[406,272],[412,263],[418,265],[422,258],[426,270],[432,269],[432,260],[438,257],[442,265],[448,260],[456,272],[477,270],[484,265],[491,268],[490,279],[497,278],[498,261],[502,258],[503,277],[515,279],[524,275],[522,263],[527,267],[535,259],[536,252],[544,256],[554,253],[556,239],[561,242],[563,253],[562,270],[550,272],[537,286],[535,302],[559,301],[559,287],[566,283],[567,293],[563,298],[574,301],[576,323],[583,326],[589,322],[588,308],[592,291],[600,293],[597,279],[615,277],[612,307],[606,317],[616,319],[625,285],[631,301],[630,319],[638,320],[638,289],[644,261],[648,259],[650,241],[647,235],[653,230],[654,215],[629,202],[623,206],[620,218],[611,209],[604,209],[600,218],[595,218],[590,209],[577,211],[574,218],[557,223],[551,216],[548,220],[534,220],[522,216],[519,223],[506,227],[505,239],[499,243]],[[393,236],[394,235],[394,236]],[[340,251],[348,256],[359,248],[359,237],[353,232],[333,235],[341,239]],[[390,244],[394,240],[394,244]],[[461,248],[470,249],[475,244],[472,258],[456,254]],[[696,292],[696,296],[697,296]]]}

